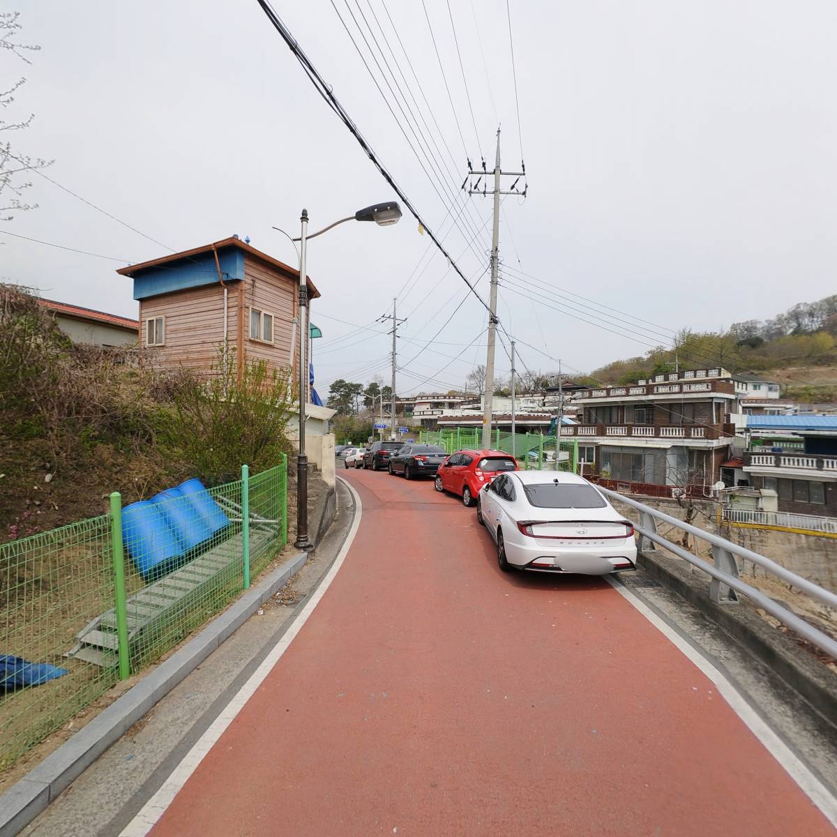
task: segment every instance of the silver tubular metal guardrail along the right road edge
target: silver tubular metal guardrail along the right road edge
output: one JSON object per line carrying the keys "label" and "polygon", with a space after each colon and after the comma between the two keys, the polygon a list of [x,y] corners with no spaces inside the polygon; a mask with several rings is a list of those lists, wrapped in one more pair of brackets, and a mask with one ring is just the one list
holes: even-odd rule
{"label": "silver tubular metal guardrail along the right road edge", "polygon": [[[639,532],[640,552],[644,549],[655,550],[656,545],[663,547],[669,552],[673,552],[693,567],[697,567],[702,572],[711,576],[709,595],[712,601],[719,604],[735,603],[738,601],[737,593],[741,593],[742,596],[747,596],[752,603],[763,608],[766,613],[778,619],[782,624],[804,637],[804,639],[807,639],[811,644],[816,645],[817,648],[833,657],[834,660],[837,660],[837,640],[832,639],[828,634],[824,634],[823,631],[814,628],[812,624],[801,619],[788,610],[788,608],[783,608],[781,604],[774,602],[772,598],[757,590],[757,588],[742,582],[738,576],[736,557],[740,557],[756,564],[758,567],[762,567],[766,572],[776,578],[781,578],[784,582],[793,585],[793,587],[806,593],[811,598],[829,606],[829,608],[834,608],[834,610],[837,610],[837,594],[819,587],[818,584],[814,584],[814,582],[809,581],[807,578],[792,573],[786,567],[772,561],[768,557],[760,555],[758,552],[752,552],[750,549],[740,547],[736,543],[727,541],[726,538],[715,535],[710,531],[699,529],[697,526],[692,526],[691,523],[685,523],[676,517],[665,514],[664,511],[659,511],[651,506],[638,503],[623,494],[619,494],[618,491],[602,488],[600,485],[598,486],[598,490],[604,495],[627,506],[632,506],[639,511],[639,526],[634,526],[634,528]],[[701,540],[711,544],[714,563],[704,561],[703,558],[697,557],[676,543],[666,540],[665,537],[660,537],[657,534],[656,521],[664,521],[681,531],[687,531],[691,535],[699,537]]]}

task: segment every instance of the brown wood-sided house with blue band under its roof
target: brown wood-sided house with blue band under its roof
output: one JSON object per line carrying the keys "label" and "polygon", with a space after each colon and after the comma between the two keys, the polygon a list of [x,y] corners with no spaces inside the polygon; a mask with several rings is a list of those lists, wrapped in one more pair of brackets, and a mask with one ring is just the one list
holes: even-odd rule
{"label": "brown wood-sided house with blue band under its roof", "polygon": [[162,366],[209,372],[226,350],[239,374],[264,360],[296,375],[298,270],[232,236],[116,272],[134,280],[141,346]]}

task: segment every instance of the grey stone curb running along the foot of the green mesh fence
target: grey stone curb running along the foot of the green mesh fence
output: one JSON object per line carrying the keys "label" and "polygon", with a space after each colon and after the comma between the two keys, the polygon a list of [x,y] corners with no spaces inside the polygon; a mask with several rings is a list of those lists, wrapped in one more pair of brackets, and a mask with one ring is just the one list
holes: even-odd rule
{"label": "grey stone curb running along the foot of the green mesh fence", "polygon": [[3,793],[0,796],[0,837],[13,837],[38,816],[85,768],[298,573],[307,558],[306,552],[291,556]]}

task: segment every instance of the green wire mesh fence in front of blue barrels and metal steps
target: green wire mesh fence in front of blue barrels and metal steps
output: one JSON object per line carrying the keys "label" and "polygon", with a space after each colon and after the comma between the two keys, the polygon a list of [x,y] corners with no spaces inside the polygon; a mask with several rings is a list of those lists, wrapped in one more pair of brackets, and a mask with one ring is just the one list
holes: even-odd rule
{"label": "green wire mesh fence in front of blue barrels and metal steps", "polygon": [[0,545],[0,768],[157,660],[287,542],[287,463]]}

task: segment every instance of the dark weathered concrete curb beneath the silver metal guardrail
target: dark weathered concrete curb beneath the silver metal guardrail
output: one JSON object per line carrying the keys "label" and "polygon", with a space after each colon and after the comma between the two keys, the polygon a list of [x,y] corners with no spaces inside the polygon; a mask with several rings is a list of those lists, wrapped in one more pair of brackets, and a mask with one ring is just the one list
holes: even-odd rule
{"label": "dark weathered concrete curb beneath the silver metal guardrail", "polygon": [[714,603],[709,598],[709,577],[691,574],[680,559],[659,551],[642,552],[639,565],[762,660],[771,676],[782,680],[819,715],[829,737],[837,743],[837,675],[800,649],[790,636],[761,619],[746,601],[737,605]]}

